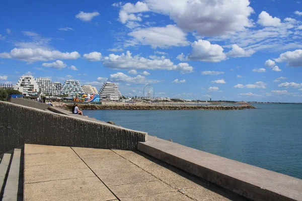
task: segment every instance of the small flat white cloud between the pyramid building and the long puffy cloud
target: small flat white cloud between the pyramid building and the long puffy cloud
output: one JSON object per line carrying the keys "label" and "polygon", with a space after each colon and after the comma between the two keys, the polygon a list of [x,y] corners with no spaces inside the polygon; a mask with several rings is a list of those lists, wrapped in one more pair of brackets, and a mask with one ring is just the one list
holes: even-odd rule
{"label": "small flat white cloud between the pyramid building and the long puffy cloud", "polygon": [[136,77],[131,77],[125,75],[122,72],[117,72],[115,74],[111,74],[109,80],[112,81],[119,81],[119,82],[130,82],[135,84],[146,84],[146,83],[158,83],[161,82],[160,80],[156,79],[146,79],[144,76],[137,75]]}

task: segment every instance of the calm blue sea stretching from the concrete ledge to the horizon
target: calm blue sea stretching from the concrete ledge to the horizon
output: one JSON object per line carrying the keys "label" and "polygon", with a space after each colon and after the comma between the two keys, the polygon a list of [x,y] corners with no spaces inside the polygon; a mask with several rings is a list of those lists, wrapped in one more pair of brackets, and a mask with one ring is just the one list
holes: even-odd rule
{"label": "calm blue sea stretching from the concrete ledge to the horizon", "polygon": [[90,110],[84,115],[302,179],[302,105],[243,111]]}

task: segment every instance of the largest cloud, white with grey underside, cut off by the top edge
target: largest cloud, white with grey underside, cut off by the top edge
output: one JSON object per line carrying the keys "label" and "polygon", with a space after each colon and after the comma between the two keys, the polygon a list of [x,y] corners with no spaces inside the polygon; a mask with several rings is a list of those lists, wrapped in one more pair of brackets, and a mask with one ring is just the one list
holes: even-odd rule
{"label": "largest cloud, white with grey underside, cut off by the top edge", "polygon": [[197,31],[200,35],[223,35],[227,32],[251,27],[248,19],[254,12],[248,0],[145,0],[153,12],[168,15],[178,27],[186,31]]}

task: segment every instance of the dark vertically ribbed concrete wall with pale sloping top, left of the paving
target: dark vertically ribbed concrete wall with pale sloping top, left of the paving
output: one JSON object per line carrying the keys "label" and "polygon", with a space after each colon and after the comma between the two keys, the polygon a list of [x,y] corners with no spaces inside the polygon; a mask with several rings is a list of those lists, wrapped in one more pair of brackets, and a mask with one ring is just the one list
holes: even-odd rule
{"label": "dark vertically ribbed concrete wall with pale sloping top, left of the paving", "polygon": [[144,132],[7,102],[0,113],[0,154],[23,144],[136,150],[147,140]]}

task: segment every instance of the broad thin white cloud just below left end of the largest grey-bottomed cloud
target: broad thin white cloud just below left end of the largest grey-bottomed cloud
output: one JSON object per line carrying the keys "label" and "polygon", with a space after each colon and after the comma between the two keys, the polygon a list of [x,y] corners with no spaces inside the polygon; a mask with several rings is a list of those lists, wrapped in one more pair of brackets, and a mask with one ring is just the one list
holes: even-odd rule
{"label": "broad thin white cloud just below left end of the largest grey-bottomed cloud", "polygon": [[152,48],[169,48],[189,45],[186,39],[187,34],[175,25],[137,29],[128,35],[134,39],[126,42],[126,46],[141,44],[150,45]]}

